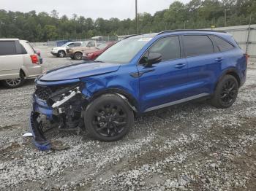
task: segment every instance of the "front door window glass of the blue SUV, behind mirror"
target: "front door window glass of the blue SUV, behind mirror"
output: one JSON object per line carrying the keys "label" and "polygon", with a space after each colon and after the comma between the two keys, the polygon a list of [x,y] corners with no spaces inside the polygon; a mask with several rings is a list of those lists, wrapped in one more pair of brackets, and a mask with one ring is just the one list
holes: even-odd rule
{"label": "front door window glass of the blue SUV, behind mirror", "polygon": [[148,51],[149,53],[154,52],[161,54],[162,61],[181,58],[181,47],[178,36],[170,36],[160,39]]}

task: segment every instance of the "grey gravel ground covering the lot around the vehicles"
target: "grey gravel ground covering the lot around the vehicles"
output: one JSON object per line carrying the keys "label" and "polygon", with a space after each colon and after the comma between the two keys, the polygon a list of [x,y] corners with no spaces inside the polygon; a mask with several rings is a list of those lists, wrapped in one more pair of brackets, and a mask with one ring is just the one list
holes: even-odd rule
{"label": "grey gravel ground covering the lot around the vehicles", "polygon": [[[72,63],[42,50],[45,69]],[[230,109],[206,101],[143,114],[121,141],[52,131],[39,152],[28,131],[29,80],[0,87],[0,190],[255,190],[256,65]]]}

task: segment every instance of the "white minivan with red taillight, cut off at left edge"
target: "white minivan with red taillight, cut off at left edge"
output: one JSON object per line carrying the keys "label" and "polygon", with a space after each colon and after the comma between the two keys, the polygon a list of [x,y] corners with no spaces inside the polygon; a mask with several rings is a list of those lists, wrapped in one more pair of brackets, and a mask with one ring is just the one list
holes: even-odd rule
{"label": "white minivan with red taillight, cut off at left edge", "polygon": [[10,88],[42,74],[42,59],[26,40],[0,39],[0,80]]}

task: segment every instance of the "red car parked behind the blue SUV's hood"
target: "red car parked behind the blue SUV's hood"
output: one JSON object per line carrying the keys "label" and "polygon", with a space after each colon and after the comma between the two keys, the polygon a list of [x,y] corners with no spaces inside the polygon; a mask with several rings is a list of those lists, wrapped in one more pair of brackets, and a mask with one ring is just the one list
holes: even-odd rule
{"label": "red car parked behind the blue SUV's hood", "polygon": [[106,43],[100,44],[98,47],[96,47],[96,49],[87,50],[86,52],[83,52],[83,60],[84,61],[95,60],[99,55],[102,54],[102,52],[107,50],[109,47],[112,47],[113,44],[116,44],[116,42],[106,42]]}

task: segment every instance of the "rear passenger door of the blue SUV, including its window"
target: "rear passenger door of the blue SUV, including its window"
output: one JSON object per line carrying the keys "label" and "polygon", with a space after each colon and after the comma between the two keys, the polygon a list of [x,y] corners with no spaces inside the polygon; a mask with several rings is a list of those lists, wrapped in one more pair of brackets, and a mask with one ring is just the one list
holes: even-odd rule
{"label": "rear passenger door of the blue SUV, including its window", "polygon": [[184,35],[188,63],[188,96],[211,94],[221,72],[223,55],[207,35]]}

